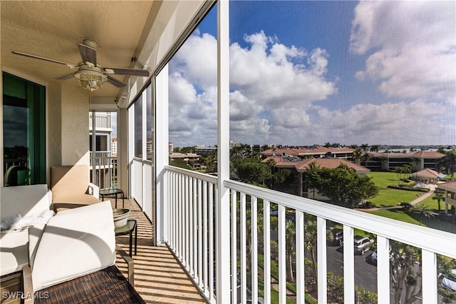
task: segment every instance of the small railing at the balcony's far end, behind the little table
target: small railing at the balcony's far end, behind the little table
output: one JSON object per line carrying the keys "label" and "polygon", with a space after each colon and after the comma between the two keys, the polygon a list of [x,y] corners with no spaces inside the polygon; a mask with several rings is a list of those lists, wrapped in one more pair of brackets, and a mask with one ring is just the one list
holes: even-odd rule
{"label": "small railing at the balcony's far end, behind the little table", "polygon": [[100,188],[115,188],[117,187],[117,176],[117,156],[112,156],[110,151],[90,152],[92,183]]}

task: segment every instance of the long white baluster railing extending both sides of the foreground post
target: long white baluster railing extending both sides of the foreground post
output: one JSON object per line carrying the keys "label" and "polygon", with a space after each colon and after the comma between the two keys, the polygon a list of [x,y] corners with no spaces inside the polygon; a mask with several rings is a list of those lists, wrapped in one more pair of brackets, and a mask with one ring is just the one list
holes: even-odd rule
{"label": "long white baluster railing extending both sides of the foreground post", "polygon": [[[456,235],[441,230],[412,225],[389,218],[373,216],[361,211],[333,206],[307,198],[250,186],[235,181],[224,181],[231,191],[230,239],[222,240],[223,248],[215,248],[214,212],[217,206],[217,178],[166,167],[168,184],[167,224],[165,243],[192,277],[200,291],[212,303],[217,303],[215,263],[230,263],[231,303],[271,303],[271,290],[278,292],[279,303],[286,303],[286,245],[289,232],[286,218],[294,213],[296,223],[296,286],[304,286],[304,219],[316,218],[318,302],[328,302],[327,224],[343,226],[344,243],[353,244],[355,229],[377,235],[377,293],[378,303],[390,302],[390,240],[413,245],[422,253],[420,266],[423,303],[438,303],[437,255],[456,258]],[[271,208],[277,208],[277,230],[271,235]],[[235,215],[235,216],[232,216]],[[263,226],[263,229],[258,227]],[[261,235],[263,236],[261,238]],[[271,238],[278,244],[278,258],[271,257]],[[288,244],[289,245],[289,244]],[[217,250],[229,250],[231,258],[216,261]],[[263,253],[260,265],[259,254]],[[343,246],[343,299],[355,303],[355,259],[353,245]],[[249,257],[249,258],[247,258]],[[278,265],[278,282],[272,282],[271,263]],[[259,270],[261,273],[259,273]],[[249,280],[247,279],[249,278]],[[277,279],[277,278],[276,278]],[[264,288],[259,288],[260,282]],[[272,288],[271,285],[275,287]],[[275,291],[274,291],[275,293]],[[240,298],[239,298],[240,297]],[[262,297],[263,299],[259,298]],[[296,303],[304,303],[304,288],[296,288]]]}

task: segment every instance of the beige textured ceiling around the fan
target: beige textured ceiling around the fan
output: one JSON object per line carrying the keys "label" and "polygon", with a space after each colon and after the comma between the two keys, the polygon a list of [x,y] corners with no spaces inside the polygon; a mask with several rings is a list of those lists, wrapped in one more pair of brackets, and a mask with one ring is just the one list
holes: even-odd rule
{"label": "beige textured ceiling around the fan", "polygon": [[[48,61],[11,54],[20,51],[48,59],[78,64],[78,43],[98,42],[97,61],[101,66],[133,66],[152,7],[152,1],[0,1],[1,66],[6,71],[31,76],[44,83],[71,73],[68,67]],[[125,81],[125,76],[113,76]],[[79,86],[74,77],[64,86]],[[81,88],[83,90],[83,88]],[[119,88],[104,83],[93,96],[118,96]]]}

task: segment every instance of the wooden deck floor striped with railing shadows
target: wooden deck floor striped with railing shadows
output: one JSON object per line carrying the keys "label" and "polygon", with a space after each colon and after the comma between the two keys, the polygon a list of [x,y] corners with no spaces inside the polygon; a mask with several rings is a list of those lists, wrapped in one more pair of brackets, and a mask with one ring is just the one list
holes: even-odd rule
{"label": "wooden deck floor striped with railing shadows", "polygon": [[[111,203],[114,205],[114,199]],[[118,208],[122,200],[118,200]],[[138,223],[138,253],[135,260],[135,289],[146,303],[206,303],[187,274],[166,247],[152,246],[152,225],[138,204],[125,199],[130,218]],[[118,236],[117,243],[129,252],[129,237]],[[134,246],[133,246],[134,251]],[[126,264],[118,257],[116,264],[126,273]]]}

